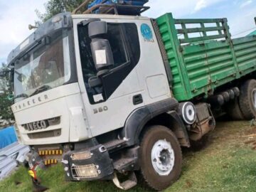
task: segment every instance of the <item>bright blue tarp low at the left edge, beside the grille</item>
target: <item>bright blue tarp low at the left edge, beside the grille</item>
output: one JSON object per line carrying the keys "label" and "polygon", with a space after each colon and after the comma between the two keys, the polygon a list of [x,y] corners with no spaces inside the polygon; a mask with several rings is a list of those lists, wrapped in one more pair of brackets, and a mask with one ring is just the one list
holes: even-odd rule
{"label": "bright blue tarp low at the left edge, beside the grille", "polygon": [[6,129],[0,130],[0,149],[14,142],[17,142],[14,127],[7,127]]}

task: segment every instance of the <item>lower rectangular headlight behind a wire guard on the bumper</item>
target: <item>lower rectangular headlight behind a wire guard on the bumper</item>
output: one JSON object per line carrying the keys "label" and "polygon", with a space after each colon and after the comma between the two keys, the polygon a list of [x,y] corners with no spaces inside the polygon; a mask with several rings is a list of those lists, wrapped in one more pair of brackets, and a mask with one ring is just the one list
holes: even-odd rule
{"label": "lower rectangular headlight behind a wire guard on the bumper", "polygon": [[72,166],[72,173],[74,178],[95,178],[100,174],[95,164],[85,166]]}

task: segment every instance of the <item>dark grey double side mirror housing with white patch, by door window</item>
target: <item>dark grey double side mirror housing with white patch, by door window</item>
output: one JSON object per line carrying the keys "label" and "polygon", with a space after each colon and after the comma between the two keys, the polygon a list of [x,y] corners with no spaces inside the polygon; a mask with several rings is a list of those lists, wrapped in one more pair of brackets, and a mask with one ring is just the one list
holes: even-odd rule
{"label": "dark grey double side mirror housing with white patch, by door window", "polygon": [[95,62],[97,76],[107,73],[110,66],[114,65],[113,53],[107,35],[107,23],[105,21],[93,21],[88,26],[89,37],[92,39],[91,50]]}

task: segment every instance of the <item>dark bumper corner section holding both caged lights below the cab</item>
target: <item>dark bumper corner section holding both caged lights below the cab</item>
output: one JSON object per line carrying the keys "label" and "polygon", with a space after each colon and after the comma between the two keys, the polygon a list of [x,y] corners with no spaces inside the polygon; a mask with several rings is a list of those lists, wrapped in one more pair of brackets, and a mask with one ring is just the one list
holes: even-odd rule
{"label": "dark bumper corner section holding both caged lights below the cab", "polygon": [[114,166],[103,145],[90,149],[68,151],[63,155],[65,176],[68,181],[112,180]]}

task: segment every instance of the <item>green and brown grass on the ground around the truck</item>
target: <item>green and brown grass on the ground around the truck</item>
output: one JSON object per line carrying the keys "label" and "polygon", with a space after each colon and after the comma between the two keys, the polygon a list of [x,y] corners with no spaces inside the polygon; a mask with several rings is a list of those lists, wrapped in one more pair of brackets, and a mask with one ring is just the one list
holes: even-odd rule
{"label": "green and brown grass on the ground around the truck", "polygon": [[[249,122],[218,122],[203,149],[183,149],[181,178],[166,191],[256,191],[255,144],[256,127]],[[48,169],[42,180],[49,192],[119,191],[111,181],[65,182],[61,165]],[[31,190],[23,167],[0,182],[0,191]],[[130,191],[146,189],[137,186]]]}

